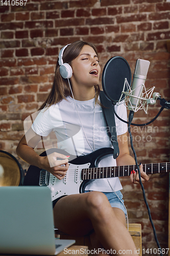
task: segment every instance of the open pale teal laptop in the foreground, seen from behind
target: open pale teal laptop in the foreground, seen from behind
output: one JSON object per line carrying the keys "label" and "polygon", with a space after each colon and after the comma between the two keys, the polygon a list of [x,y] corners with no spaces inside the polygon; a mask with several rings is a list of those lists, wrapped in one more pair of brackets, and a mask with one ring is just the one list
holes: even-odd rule
{"label": "open pale teal laptop in the foreground, seen from behind", "polygon": [[56,255],[74,243],[55,239],[48,187],[0,187],[1,253]]}

